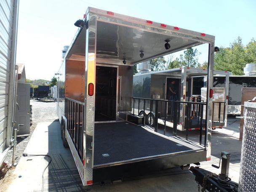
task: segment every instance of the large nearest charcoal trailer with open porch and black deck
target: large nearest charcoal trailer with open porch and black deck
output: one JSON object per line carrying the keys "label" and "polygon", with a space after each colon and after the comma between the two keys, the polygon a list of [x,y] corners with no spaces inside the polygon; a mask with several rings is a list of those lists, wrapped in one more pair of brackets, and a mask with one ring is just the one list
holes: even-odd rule
{"label": "large nearest charcoal trailer with open porch and black deck", "polygon": [[[214,36],[95,8],[76,25],[57,74],[57,114],[83,184],[209,160]],[[133,65],[204,43],[209,51],[205,140],[195,143],[136,125],[144,118],[131,114]]]}

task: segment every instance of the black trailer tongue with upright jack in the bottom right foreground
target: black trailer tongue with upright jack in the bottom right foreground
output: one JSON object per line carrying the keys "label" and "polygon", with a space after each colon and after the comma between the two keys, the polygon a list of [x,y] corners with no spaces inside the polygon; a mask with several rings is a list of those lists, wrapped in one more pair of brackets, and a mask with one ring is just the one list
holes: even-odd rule
{"label": "black trailer tongue with upright jack in the bottom right foreground", "polygon": [[221,152],[219,166],[212,166],[219,168],[221,160],[221,173],[219,175],[210,171],[206,171],[205,169],[199,168],[198,166],[192,166],[189,168],[189,170],[195,175],[195,181],[198,183],[198,192],[200,191],[200,185],[203,187],[201,189],[202,192],[205,192],[206,190],[209,192],[238,191],[238,184],[231,181],[231,179],[228,177],[230,153]]}

